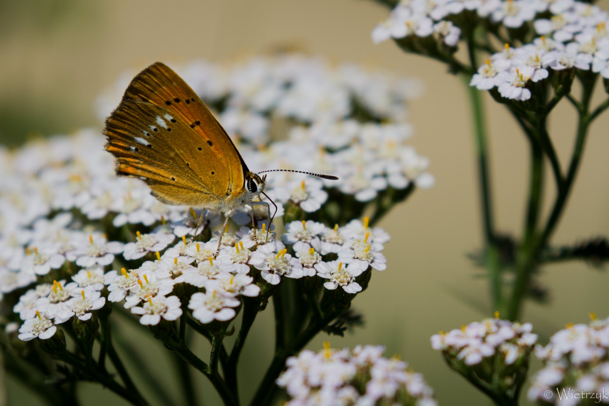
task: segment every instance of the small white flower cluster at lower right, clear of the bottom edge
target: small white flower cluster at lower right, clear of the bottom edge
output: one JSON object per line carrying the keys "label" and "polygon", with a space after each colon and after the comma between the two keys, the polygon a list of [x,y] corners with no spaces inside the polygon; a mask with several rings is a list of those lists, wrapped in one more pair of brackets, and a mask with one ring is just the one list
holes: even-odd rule
{"label": "small white flower cluster at lower right, clear of the bottom edge", "polygon": [[431,346],[465,365],[478,365],[496,354],[502,357],[504,365],[513,365],[532,351],[537,341],[532,329],[530,323],[488,318],[432,335]]}

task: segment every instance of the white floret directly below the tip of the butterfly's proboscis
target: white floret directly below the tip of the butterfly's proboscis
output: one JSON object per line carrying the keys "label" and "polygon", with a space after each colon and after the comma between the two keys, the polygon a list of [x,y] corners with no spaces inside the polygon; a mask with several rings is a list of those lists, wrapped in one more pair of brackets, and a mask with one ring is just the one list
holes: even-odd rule
{"label": "white floret directly below the tip of the butterfly's proboscis", "polygon": [[261,270],[262,279],[272,285],[281,282],[281,276],[302,278],[303,269],[298,259],[287,254],[287,249],[275,251],[269,245],[262,245],[252,254],[250,264]]}

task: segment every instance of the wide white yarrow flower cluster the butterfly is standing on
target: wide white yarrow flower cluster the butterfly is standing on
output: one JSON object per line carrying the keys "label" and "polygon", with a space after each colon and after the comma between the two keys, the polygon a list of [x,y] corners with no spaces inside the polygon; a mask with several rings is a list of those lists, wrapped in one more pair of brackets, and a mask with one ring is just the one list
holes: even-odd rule
{"label": "wide white yarrow flower cluster the butterfly is standing on", "polygon": [[[163,205],[144,184],[116,178],[103,142],[93,131],[81,131],[2,152],[6,176],[0,178],[0,292],[30,287],[14,308],[25,321],[24,340],[51,337],[55,324],[73,316],[88,320],[91,310],[104,306],[100,292],[106,292],[105,285],[108,300],[125,299],[125,307],[142,315],[142,324],[180,317],[180,299],[170,293],[175,284],[193,285],[201,292],[192,295],[188,307],[208,323],[233,318],[240,295],[258,295],[250,267],[269,284],[278,284],[283,276],[320,276],[328,279],[327,289],[342,287],[348,293],[362,290],[356,278],[368,267],[385,269],[381,251],[389,235],[369,228],[368,220],[340,228],[293,222],[281,240],[270,233],[269,242],[264,228],[243,227],[225,234],[227,245],[213,259],[217,238],[186,243],[197,213]],[[270,192],[281,194],[279,189]],[[217,215],[206,217],[210,225],[217,224]],[[136,231],[134,241],[127,243],[109,241],[99,231],[126,225],[153,231]],[[174,244],[177,236],[182,239]],[[284,243],[293,248],[294,257]],[[155,253],[155,261],[146,261]],[[328,254],[337,260],[324,261]],[[108,271],[121,257],[141,266]]]}

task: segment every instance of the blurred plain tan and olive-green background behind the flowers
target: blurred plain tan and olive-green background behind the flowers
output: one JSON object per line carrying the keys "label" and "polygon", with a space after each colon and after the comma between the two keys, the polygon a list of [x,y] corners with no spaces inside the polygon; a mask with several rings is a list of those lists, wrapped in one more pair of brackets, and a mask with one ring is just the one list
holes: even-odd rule
{"label": "blurred plain tan and olive-green background behind the flowers", "polygon": [[[607,9],[608,3],[600,6]],[[374,273],[367,292],[353,304],[364,313],[365,327],[329,340],[334,348],[387,346],[386,355],[400,354],[424,374],[441,405],[488,404],[429,345],[438,330],[487,317],[491,310],[486,281],[476,278],[480,270],[466,257],[481,246],[481,223],[465,88],[434,61],[406,55],[389,41],[374,46],[370,31],[388,12],[367,0],[1,0],[0,143],[19,145],[39,135],[101,128],[94,112],[100,91],[125,69],[139,71],[155,61],[230,61],[290,46],[330,61],[418,77],[425,91],[411,105],[415,136],[410,143],[431,159],[436,184],[416,191],[385,217],[381,226],[392,235],[385,248],[389,267]],[[596,96],[605,97],[601,89]],[[486,103],[498,228],[519,233],[527,145],[507,111],[490,98]],[[561,103],[552,117],[551,134],[563,164],[571,151],[575,117],[568,103]],[[554,243],[609,234],[608,126],[605,114],[591,129]],[[546,203],[553,196],[549,188]],[[602,269],[574,262],[552,265],[543,268],[541,281],[550,289],[549,303],[527,302],[522,321],[533,323],[543,343],[566,323],[587,321],[588,312],[609,315],[609,275]],[[170,360],[160,343],[122,327],[121,334],[175,391],[175,377],[167,372]],[[246,398],[272,357],[273,339],[272,312],[261,313],[239,371]],[[316,337],[309,348],[321,348],[324,340],[325,334]],[[195,352],[205,356],[205,344],[197,342]],[[132,376],[137,375],[137,367],[132,368]],[[218,405],[211,386],[202,378],[198,382],[204,404]],[[83,384],[79,391],[83,405],[125,404],[99,385]],[[43,404],[10,376],[4,392],[5,404]]]}

